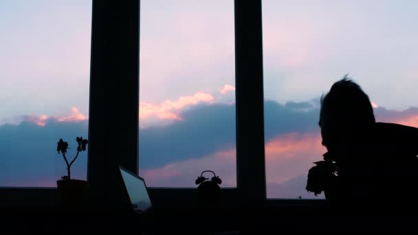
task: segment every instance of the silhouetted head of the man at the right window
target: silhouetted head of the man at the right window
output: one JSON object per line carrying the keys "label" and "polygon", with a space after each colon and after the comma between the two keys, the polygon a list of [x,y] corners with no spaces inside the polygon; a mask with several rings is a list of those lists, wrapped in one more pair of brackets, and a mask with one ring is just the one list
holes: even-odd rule
{"label": "silhouetted head of the man at the right window", "polygon": [[369,96],[347,76],[334,83],[321,98],[319,126],[322,144],[329,152],[353,144],[374,123]]}

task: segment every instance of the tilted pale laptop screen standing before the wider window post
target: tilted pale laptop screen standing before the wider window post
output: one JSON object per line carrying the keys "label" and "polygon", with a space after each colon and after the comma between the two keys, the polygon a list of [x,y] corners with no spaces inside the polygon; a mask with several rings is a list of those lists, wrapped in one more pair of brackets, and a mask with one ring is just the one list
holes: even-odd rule
{"label": "tilted pale laptop screen standing before the wider window post", "polygon": [[126,187],[126,191],[129,194],[129,199],[134,210],[140,210],[145,212],[151,208],[151,200],[146,190],[144,179],[136,175],[132,175],[130,172],[120,168],[120,173]]}

